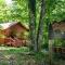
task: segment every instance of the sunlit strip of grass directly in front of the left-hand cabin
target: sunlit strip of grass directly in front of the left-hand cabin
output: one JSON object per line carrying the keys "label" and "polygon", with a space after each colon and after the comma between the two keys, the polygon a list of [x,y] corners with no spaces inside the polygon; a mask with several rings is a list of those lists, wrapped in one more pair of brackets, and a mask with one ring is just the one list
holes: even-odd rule
{"label": "sunlit strip of grass directly in front of the left-hand cabin", "polygon": [[10,53],[28,53],[29,48],[22,47],[22,48],[14,48],[14,47],[0,47],[0,51],[3,51],[4,54]]}

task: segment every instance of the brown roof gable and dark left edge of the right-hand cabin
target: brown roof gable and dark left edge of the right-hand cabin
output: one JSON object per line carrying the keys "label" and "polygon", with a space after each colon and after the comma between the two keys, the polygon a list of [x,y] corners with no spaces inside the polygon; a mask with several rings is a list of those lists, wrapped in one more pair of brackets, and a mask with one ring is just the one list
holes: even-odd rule
{"label": "brown roof gable and dark left edge of the right-hand cabin", "polygon": [[50,23],[50,25],[49,25],[49,38],[53,39],[54,32],[56,32],[56,31],[61,31],[63,34],[65,32],[65,21],[60,21],[60,22],[54,21],[53,23]]}

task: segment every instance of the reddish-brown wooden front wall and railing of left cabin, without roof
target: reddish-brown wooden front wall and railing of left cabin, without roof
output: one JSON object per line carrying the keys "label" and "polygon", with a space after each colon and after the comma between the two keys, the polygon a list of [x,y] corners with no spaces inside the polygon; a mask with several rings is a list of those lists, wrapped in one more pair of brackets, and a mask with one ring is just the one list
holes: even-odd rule
{"label": "reddish-brown wooden front wall and railing of left cabin, without roof", "polygon": [[[27,39],[24,38],[25,35],[23,35],[23,34],[25,34],[26,31],[27,31],[27,29],[24,28],[23,26],[21,26],[20,24],[13,25],[2,31],[2,34],[6,37],[0,39],[0,44],[2,43],[2,44],[9,44],[9,46],[13,46],[13,47],[25,46],[27,42]],[[14,35],[13,35],[13,32],[14,32]],[[11,36],[13,36],[15,38],[12,38]]]}

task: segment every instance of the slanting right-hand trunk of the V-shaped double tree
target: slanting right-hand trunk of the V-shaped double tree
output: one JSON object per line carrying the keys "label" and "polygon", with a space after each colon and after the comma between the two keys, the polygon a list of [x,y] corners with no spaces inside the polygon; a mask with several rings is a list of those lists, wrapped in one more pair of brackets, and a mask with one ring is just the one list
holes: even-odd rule
{"label": "slanting right-hand trunk of the V-shaped double tree", "polygon": [[43,42],[43,21],[46,15],[46,0],[41,0],[41,12],[40,12],[40,20],[39,20],[39,27],[37,34],[37,49],[38,51],[41,50],[41,43]]}

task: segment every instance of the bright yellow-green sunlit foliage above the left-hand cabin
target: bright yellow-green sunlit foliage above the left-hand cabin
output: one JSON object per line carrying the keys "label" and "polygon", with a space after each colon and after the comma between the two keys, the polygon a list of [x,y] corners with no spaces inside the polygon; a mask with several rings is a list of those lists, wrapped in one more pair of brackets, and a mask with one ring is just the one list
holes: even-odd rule
{"label": "bright yellow-green sunlit foliage above the left-hand cabin", "polygon": [[28,22],[28,6],[26,0],[14,0],[10,6],[6,5],[4,0],[0,1],[0,22],[12,21]]}

